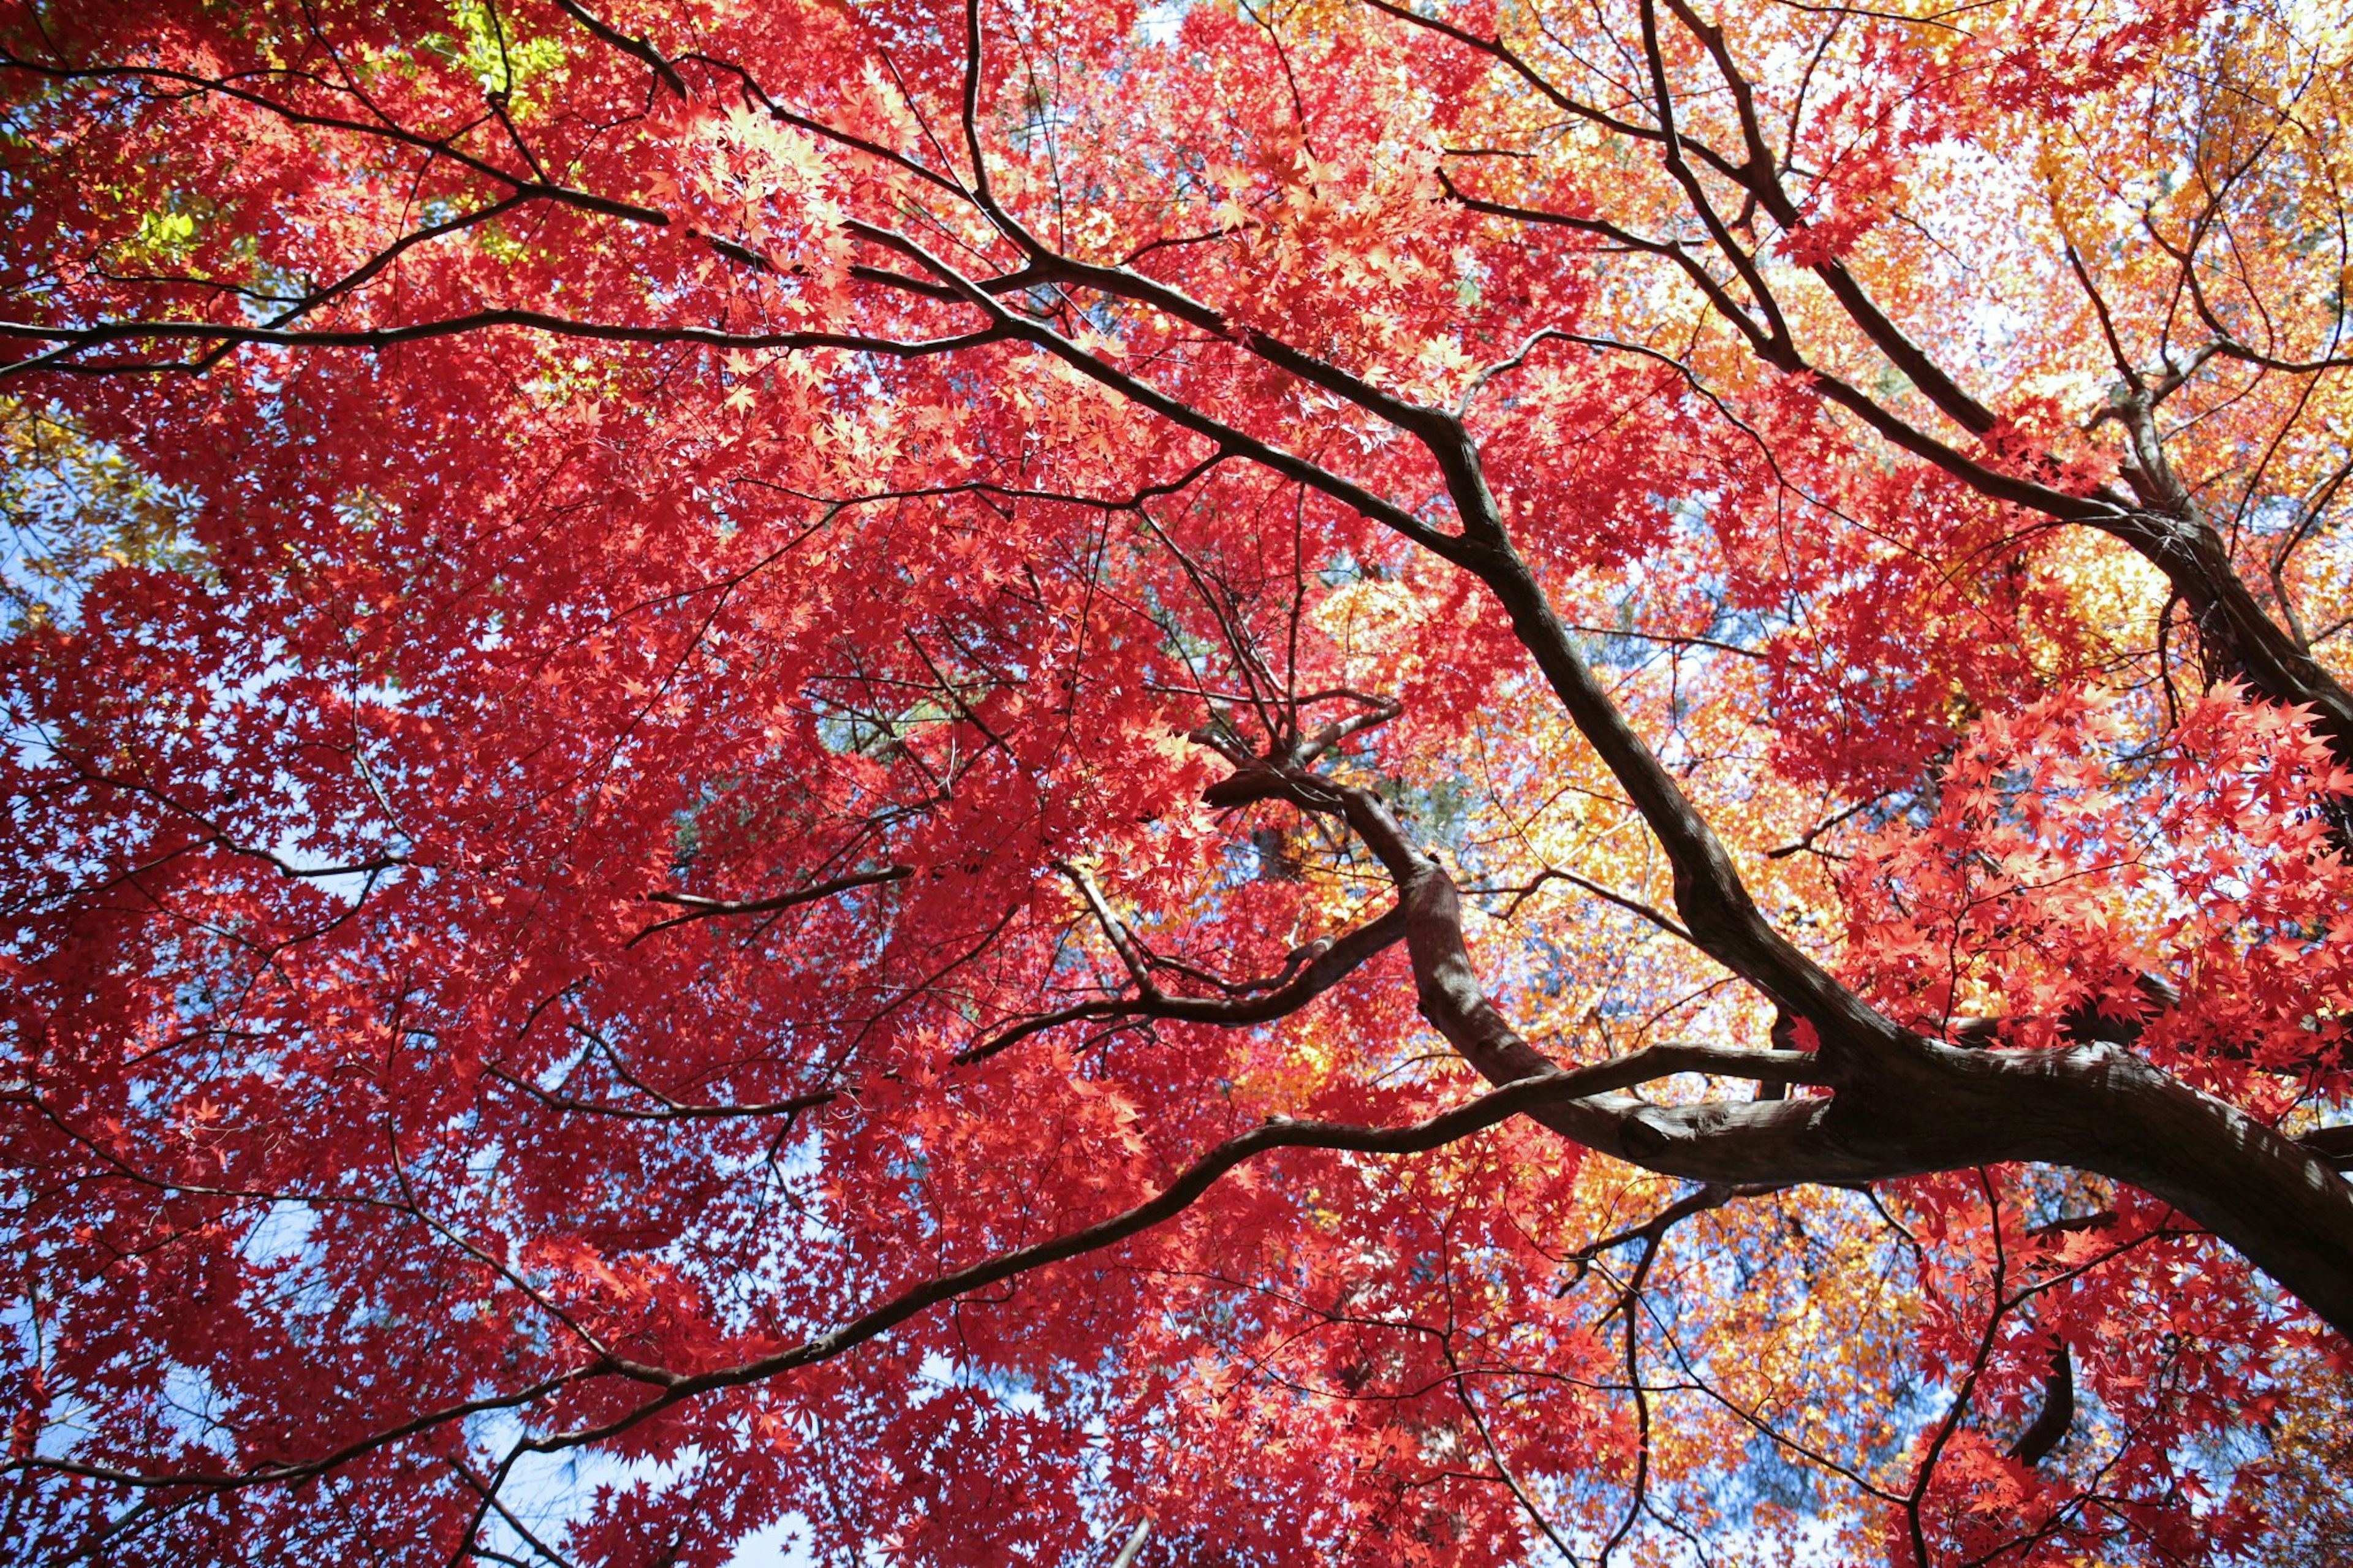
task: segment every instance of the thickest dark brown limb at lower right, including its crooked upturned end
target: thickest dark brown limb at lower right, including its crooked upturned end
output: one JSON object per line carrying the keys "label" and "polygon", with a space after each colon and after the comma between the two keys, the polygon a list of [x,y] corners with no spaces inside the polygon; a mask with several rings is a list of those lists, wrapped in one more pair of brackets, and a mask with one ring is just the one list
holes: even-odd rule
{"label": "thickest dark brown limb at lower right, including its crooked upturned end", "polygon": [[[1214,793],[1346,817],[1398,885],[1421,1015],[1492,1083],[1551,1067],[1487,1001],[1464,946],[1452,878],[1414,850],[1379,796],[1280,768],[1242,770]],[[1678,899],[1689,913],[1697,899],[1682,881],[1678,866]],[[2353,1187],[2306,1147],[2120,1045],[1969,1050],[1894,1031],[1828,975],[1821,986],[1821,1012],[1793,1008],[1824,1034],[1819,1057],[1713,1050],[1668,1071],[1774,1078],[1784,1074],[1744,1071],[1741,1062],[1795,1057],[1802,1071],[1786,1076],[1828,1085],[1831,1095],[1654,1107],[1609,1092],[1640,1083],[1638,1074],[1609,1090],[1584,1078],[1593,1092],[1546,1099],[1529,1116],[1588,1149],[1697,1182],[1866,1184],[2007,1161],[2092,1170],[2165,1198],[2339,1333],[2353,1333]],[[1887,1031],[1882,1048],[1831,1050],[1833,1029],[1868,1026]]]}

